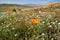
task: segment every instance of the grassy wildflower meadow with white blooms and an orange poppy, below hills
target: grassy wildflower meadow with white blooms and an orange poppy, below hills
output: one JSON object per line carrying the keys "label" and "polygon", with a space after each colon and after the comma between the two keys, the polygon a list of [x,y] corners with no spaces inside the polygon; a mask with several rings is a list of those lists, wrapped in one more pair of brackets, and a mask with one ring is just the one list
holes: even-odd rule
{"label": "grassy wildflower meadow with white blooms and an orange poppy, below hills", "polygon": [[60,6],[16,10],[0,11],[0,40],[60,40]]}

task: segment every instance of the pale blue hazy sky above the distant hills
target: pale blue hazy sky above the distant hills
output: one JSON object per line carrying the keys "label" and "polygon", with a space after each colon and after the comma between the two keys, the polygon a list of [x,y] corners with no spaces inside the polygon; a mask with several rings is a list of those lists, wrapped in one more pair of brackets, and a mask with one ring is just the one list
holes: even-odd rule
{"label": "pale blue hazy sky above the distant hills", "polygon": [[60,2],[60,0],[0,0],[0,4],[39,4],[46,5]]}

